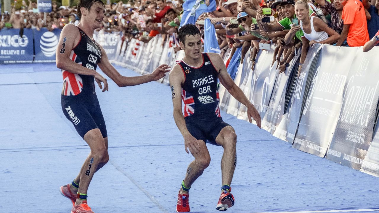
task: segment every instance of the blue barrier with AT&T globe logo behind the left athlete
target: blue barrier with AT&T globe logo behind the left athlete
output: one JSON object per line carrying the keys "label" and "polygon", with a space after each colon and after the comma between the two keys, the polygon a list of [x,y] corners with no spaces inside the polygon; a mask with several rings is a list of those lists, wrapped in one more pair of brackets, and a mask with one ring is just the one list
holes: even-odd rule
{"label": "blue barrier with AT&T globe logo behind the left athlete", "polygon": [[[22,34],[22,36],[20,36]],[[36,29],[0,30],[0,64],[55,62],[55,51],[60,29],[48,31]],[[103,46],[108,59],[114,60],[121,33],[95,31],[93,38]]]}

